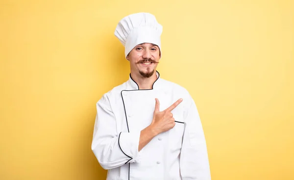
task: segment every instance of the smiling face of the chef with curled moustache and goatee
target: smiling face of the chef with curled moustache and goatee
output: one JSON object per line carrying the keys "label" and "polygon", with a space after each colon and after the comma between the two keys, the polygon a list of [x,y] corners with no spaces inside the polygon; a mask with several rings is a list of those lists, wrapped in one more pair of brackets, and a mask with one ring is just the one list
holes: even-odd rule
{"label": "smiling face of the chef with curled moustache and goatee", "polygon": [[146,78],[151,77],[156,72],[160,59],[160,50],[154,44],[139,44],[130,51],[126,59],[130,61],[131,73]]}

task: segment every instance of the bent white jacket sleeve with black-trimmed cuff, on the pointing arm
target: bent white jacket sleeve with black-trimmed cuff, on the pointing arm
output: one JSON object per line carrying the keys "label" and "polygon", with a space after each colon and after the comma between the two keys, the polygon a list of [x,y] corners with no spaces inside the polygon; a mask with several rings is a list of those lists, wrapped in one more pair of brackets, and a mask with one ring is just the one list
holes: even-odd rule
{"label": "bent white jacket sleeve with black-trimmed cuff, on the pointing arm", "polygon": [[[103,169],[139,162],[140,131],[118,132],[114,113],[106,95],[96,104],[92,151]],[[123,114],[122,114],[123,116]]]}

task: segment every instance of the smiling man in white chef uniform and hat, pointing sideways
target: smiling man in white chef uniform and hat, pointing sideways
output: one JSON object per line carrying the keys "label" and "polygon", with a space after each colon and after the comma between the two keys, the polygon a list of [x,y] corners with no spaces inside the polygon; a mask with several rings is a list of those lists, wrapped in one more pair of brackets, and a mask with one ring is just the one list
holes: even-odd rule
{"label": "smiling man in white chef uniform and hat, pointing sideways", "polygon": [[156,71],[161,33],[149,13],[126,16],[116,27],[131,73],[97,103],[92,151],[107,180],[211,179],[192,97]]}

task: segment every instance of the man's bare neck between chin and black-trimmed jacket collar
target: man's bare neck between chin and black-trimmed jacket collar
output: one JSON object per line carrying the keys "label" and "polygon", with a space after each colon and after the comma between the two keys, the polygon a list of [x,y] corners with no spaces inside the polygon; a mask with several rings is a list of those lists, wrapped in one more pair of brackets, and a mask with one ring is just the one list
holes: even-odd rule
{"label": "man's bare neck between chin and black-trimmed jacket collar", "polygon": [[132,79],[138,84],[139,89],[152,89],[154,81],[157,79],[156,71],[151,77],[142,77],[140,74],[131,72]]}

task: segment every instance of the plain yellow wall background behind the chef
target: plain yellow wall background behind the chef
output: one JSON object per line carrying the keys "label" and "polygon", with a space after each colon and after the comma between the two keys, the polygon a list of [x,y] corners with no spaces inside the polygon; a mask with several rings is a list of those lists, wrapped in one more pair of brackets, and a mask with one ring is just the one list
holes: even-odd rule
{"label": "plain yellow wall background behind the chef", "polygon": [[162,78],[189,90],[213,180],[294,180],[293,0],[0,0],[0,180],[105,180],[96,103],[128,79],[126,15],[163,25]]}

